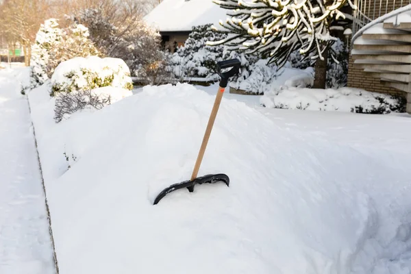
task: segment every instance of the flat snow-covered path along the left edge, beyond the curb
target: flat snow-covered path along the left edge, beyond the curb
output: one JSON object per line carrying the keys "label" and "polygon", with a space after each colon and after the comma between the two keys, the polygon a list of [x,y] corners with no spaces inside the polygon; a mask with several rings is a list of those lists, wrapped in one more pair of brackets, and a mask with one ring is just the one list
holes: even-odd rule
{"label": "flat snow-covered path along the left edge, beyond the curb", "polygon": [[15,73],[0,71],[0,273],[49,274],[45,197],[27,99]]}

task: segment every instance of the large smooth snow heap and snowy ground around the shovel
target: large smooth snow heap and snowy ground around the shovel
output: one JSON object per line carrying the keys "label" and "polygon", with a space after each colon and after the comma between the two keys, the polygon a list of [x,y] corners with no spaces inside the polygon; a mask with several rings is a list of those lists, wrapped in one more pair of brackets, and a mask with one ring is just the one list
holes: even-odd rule
{"label": "large smooth snow heap and snowy ground around the shovel", "polygon": [[48,94],[42,86],[29,100],[61,274],[411,269],[408,115],[224,97],[199,175],[226,173],[230,186],[178,190],[153,206],[190,177],[215,93],[146,86],[58,124]]}

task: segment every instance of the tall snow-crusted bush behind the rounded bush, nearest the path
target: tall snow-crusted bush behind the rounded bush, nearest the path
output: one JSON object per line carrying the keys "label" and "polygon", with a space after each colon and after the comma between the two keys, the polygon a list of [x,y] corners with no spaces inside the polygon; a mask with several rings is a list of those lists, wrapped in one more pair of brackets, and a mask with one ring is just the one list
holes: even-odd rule
{"label": "tall snow-crusted bush behind the rounded bush, nearest the path", "polygon": [[75,57],[99,55],[88,36],[87,27],[77,23],[61,29],[58,20],[51,18],[40,25],[32,47],[30,86],[34,88],[44,84],[60,62]]}

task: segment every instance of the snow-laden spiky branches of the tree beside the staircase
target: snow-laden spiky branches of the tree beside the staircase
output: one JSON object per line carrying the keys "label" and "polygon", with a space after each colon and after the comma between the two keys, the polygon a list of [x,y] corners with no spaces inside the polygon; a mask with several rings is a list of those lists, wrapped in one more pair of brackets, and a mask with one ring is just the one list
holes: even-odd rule
{"label": "snow-laden spiky branches of the tree beside the staircase", "polygon": [[304,59],[324,60],[323,53],[334,43],[330,34],[334,21],[345,19],[340,8],[351,0],[213,0],[229,10],[229,18],[220,21],[227,38],[208,45],[227,45],[246,54],[261,53],[279,68],[292,51],[299,50]]}

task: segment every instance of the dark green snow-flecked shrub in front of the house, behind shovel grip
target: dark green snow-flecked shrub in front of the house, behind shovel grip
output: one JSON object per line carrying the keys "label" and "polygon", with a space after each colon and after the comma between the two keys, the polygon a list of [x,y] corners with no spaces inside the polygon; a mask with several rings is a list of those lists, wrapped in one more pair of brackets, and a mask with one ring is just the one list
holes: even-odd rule
{"label": "dark green snow-flecked shrub in front of the house, behind shovel grip", "polygon": [[184,47],[179,47],[173,54],[171,65],[177,79],[201,77],[208,81],[216,81],[217,62],[223,60],[223,46],[208,46],[207,41],[225,38],[225,34],[214,32],[212,24],[192,27]]}

